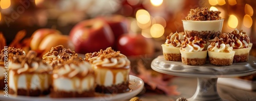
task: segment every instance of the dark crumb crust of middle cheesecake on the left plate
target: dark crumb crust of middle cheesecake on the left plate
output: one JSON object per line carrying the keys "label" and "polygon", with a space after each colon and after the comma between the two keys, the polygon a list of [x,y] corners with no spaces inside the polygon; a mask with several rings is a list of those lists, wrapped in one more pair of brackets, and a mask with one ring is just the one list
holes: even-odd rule
{"label": "dark crumb crust of middle cheesecake on the left plate", "polygon": [[93,97],[95,96],[94,90],[83,91],[81,93],[77,91],[53,91],[51,89],[50,97],[61,98],[61,97]]}

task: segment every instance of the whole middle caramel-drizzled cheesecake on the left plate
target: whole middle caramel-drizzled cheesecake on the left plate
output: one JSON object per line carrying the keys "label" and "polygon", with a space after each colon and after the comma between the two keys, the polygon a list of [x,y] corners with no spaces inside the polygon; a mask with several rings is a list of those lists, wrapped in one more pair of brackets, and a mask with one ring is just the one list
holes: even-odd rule
{"label": "whole middle caramel-drizzled cheesecake on the left plate", "polygon": [[81,57],[72,56],[53,70],[51,97],[94,96],[95,75],[92,65]]}

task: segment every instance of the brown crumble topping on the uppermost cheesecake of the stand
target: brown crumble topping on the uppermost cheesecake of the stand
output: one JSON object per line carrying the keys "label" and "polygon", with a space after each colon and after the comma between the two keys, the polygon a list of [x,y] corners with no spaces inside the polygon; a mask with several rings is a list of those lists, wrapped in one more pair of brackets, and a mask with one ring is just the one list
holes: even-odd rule
{"label": "brown crumble topping on the uppermost cheesecake of the stand", "polygon": [[189,14],[185,20],[206,21],[206,20],[220,20],[220,11],[210,11],[208,7],[190,9]]}

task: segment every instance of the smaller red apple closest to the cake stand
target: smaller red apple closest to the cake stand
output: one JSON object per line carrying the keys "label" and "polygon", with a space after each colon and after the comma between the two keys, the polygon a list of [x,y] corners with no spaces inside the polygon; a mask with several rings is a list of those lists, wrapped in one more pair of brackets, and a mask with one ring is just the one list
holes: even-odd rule
{"label": "smaller red apple closest to the cake stand", "polygon": [[126,56],[145,55],[152,56],[154,53],[154,43],[152,39],[142,35],[124,34],[120,36],[117,49]]}

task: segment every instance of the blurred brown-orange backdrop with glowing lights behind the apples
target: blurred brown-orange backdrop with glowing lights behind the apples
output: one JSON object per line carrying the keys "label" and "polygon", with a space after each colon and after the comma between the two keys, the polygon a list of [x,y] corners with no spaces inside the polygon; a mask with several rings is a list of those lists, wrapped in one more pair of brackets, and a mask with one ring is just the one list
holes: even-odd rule
{"label": "blurred brown-orange backdrop with glowing lights behind the apples", "polygon": [[255,46],[254,5],[256,2],[249,0],[1,0],[0,31],[10,44],[19,30],[26,30],[25,38],[39,28],[54,28],[69,35],[82,20],[118,14],[127,19],[124,32],[161,43],[170,32],[183,31],[181,20],[190,9],[207,6],[222,12],[223,32],[243,29]]}

